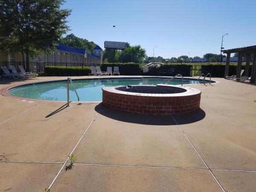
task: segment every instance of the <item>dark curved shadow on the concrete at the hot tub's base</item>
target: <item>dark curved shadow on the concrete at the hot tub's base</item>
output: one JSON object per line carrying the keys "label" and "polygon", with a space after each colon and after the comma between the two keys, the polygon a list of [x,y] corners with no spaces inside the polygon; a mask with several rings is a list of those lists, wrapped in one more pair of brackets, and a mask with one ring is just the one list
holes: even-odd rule
{"label": "dark curved shadow on the concrete at the hot tub's base", "polygon": [[[116,111],[108,109],[107,107],[102,105],[102,103],[95,107],[95,111],[103,116],[122,122],[130,122],[142,125],[177,125],[172,119],[172,116],[170,115],[139,115],[135,113]],[[187,113],[184,115],[174,115],[174,118],[180,125],[197,122],[204,119],[204,117],[205,112],[201,108],[198,111],[192,113]]]}

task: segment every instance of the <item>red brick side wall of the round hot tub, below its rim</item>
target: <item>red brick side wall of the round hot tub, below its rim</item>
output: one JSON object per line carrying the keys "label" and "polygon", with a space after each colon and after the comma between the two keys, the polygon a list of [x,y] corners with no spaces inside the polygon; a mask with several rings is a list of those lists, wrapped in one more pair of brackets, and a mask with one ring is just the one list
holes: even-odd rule
{"label": "red brick side wall of the round hot tub, below its rim", "polygon": [[187,96],[138,96],[102,90],[102,103],[108,108],[140,114],[184,114],[200,107],[201,92]]}

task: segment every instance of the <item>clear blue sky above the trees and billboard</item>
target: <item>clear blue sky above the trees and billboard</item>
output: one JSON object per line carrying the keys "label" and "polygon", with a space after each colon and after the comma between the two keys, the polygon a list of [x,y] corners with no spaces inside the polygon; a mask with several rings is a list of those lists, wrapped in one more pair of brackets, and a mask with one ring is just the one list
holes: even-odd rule
{"label": "clear blue sky above the trees and billboard", "polygon": [[[141,45],[148,56],[220,54],[256,45],[256,0],[67,0],[76,36]],[[116,25],[113,28],[113,25]]]}

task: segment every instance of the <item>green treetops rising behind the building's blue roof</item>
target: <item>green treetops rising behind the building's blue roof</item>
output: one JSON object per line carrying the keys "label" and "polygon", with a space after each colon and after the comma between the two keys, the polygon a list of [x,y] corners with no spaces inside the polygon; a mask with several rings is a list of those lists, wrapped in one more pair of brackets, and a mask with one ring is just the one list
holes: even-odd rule
{"label": "green treetops rising behind the building's blue roof", "polygon": [[97,46],[93,41],[76,37],[73,33],[61,38],[60,42],[70,47],[85,48],[89,53],[93,53],[93,48]]}

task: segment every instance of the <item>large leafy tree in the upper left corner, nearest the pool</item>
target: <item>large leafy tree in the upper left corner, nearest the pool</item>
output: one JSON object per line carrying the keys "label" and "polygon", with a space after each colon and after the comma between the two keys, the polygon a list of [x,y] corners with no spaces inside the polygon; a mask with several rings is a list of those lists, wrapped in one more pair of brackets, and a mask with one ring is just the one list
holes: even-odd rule
{"label": "large leafy tree in the upper left corner, nearest the pool", "polygon": [[[10,54],[29,55],[55,50],[55,43],[69,30],[70,9],[64,0],[0,0],[0,49]],[[24,57],[23,57],[24,58]]]}

